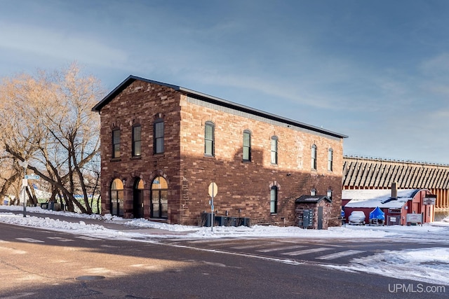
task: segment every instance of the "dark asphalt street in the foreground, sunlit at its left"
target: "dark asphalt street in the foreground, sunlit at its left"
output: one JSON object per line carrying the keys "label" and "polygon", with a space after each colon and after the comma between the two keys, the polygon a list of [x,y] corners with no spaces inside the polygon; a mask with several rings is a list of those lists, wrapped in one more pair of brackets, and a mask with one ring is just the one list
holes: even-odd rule
{"label": "dark asphalt street in the foreground, sunlit at its left", "polygon": [[[251,254],[256,248],[283,246],[277,244],[279,240],[276,239],[243,239],[235,244],[215,246],[213,250],[207,242],[192,243],[194,241],[184,240],[182,244],[173,240],[166,240],[166,244],[116,241],[0,223],[0,298],[449,296],[449,290],[404,293],[396,286],[417,286],[417,282],[331,270],[311,263],[314,258],[307,256],[309,253],[301,254],[300,263],[284,263],[276,255],[272,256],[275,251],[263,253],[273,259]],[[258,242],[274,244],[256,246]],[[330,245],[340,244],[310,243],[305,249]],[[301,249],[304,247],[297,251]],[[324,250],[320,254],[326,255]],[[306,263],[307,260],[310,263]],[[344,263],[344,259],[333,263]]]}

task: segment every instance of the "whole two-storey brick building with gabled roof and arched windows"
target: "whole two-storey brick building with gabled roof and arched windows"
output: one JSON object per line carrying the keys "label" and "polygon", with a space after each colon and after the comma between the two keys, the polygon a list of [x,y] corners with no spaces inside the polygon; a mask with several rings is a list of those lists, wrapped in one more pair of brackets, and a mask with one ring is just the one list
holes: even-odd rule
{"label": "whole two-storey brick building with gabled roof and arched windows", "polygon": [[297,225],[295,200],[316,194],[340,224],[342,134],[135,76],[93,111],[102,214],[199,225],[215,182],[219,216]]}

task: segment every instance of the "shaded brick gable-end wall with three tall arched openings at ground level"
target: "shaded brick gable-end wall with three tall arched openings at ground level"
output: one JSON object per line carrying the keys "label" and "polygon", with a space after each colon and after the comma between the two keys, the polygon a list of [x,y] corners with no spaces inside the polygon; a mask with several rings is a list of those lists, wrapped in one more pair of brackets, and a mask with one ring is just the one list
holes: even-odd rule
{"label": "shaded brick gable-end wall with three tall arched openings at ground level", "polygon": [[[102,214],[109,213],[109,188],[114,179],[126,180],[125,217],[133,215],[133,183],[142,179],[145,184],[145,216],[149,217],[149,188],[152,179],[166,177],[170,188],[169,221],[177,221],[180,183],[180,94],[171,88],[134,81],[100,111],[102,158]],[[164,153],[153,154],[153,125],[157,118],[165,125]],[[131,157],[132,127],[142,126],[142,155]],[[112,128],[121,130],[121,157],[112,159]]]}

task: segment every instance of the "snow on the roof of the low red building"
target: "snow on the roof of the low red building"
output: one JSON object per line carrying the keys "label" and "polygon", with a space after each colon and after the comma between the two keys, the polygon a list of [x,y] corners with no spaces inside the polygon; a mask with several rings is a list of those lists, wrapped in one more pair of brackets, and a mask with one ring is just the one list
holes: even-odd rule
{"label": "snow on the roof of the low red building", "polygon": [[397,199],[391,197],[390,189],[342,190],[342,199],[350,200],[344,207],[401,209],[419,189],[398,190]]}

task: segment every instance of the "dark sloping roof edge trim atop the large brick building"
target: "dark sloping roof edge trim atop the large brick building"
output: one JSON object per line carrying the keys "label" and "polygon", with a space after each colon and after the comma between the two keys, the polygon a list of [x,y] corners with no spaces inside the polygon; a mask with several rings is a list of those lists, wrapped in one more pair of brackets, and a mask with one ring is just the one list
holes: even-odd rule
{"label": "dark sloping roof edge trim atop the large brick building", "polygon": [[98,102],[98,104],[96,104],[93,107],[92,111],[100,112],[100,110],[107,103],[109,103],[109,101],[111,101],[114,97],[119,95],[120,92],[122,92],[125,88],[127,88],[134,81],[144,81],[144,82],[147,82],[147,83],[152,83],[152,84],[156,84],[156,85],[166,86],[168,88],[172,88],[173,90],[182,92],[185,95],[189,95],[190,97],[194,97],[196,99],[201,99],[202,101],[205,101],[205,102],[210,102],[212,104],[217,104],[219,106],[225,106],[227,108],[236,109],[238,111],[250,113],[250,114],[253,114],[255,116],[260,116],[260,117],[263,117],[263,118],[276,120],[276,121],[279,121],[281,123],[286,123],[287,125],[294,125],[296,127],[302,127],[304,129],[309,129],[309,130],[312,130],[312,131],[321,132],[323,134],[330,135],[330,136],[333,136],[333,137],[347,138],[347,135],[340,134],[340,133],[337,133],[337,132],[333,132],[333,131],[330,131],[330,130],[326,130],[326,129],[323,129],[321,127],[316,127],[314,125],[307,125],[306,123],[301,123],[299,121],[292,120],[290,118],[284,118],[282,116],[277,116],[277,115],[275,115],[273,113],[268,113],[268,112],[261,111],[261,110],[258,110],[258,109],[250,108],[250,107],[245,106],[245,105],[241,105],[241,104],[237,104],[237,103],[234,103],[234,102],[227,101],[226,99],[220,99],[219,97],[213,97],[211,95],[206,95],[204,93],[197,92],[195,90],[189,90],[188,88],[182,88],[182,87],[177,86],[177,85],[171,85],[171,84],[162,83],[162,82],[159,82],[159,81],[152,81],[152,80],[141,78],[141,77],[138,77],[138,76],[128,76],[128,78],[126,78],[122,83],[120,83],[120,85],[117,86],[114,90],[112,90],[112,92],[109,92],[109,95],[107,95],[100,102]]}

